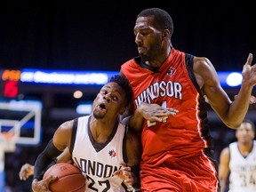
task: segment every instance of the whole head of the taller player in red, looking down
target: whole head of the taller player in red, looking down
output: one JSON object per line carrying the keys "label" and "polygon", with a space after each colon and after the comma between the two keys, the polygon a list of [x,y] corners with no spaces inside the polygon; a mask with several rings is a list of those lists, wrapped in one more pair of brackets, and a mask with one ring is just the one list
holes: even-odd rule
{"label": "whole head of the taller player in red, looking down", "polygon": [[137,16],[133,33],[141,60],[156,67],[163,64],[172,46],[173,24],[168,12],[159,8],[143,10]]}

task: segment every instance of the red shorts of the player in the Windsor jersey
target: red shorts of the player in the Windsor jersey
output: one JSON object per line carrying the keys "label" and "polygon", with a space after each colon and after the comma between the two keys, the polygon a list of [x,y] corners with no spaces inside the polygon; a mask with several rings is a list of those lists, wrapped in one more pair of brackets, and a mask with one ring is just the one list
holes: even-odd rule
{"label": "red shorts of the player in the Windsor jersey", "polygon": [[207,156],[193,156],[157,167],[141,167],[141,190],[162,192],[217,192],[218,173]]}

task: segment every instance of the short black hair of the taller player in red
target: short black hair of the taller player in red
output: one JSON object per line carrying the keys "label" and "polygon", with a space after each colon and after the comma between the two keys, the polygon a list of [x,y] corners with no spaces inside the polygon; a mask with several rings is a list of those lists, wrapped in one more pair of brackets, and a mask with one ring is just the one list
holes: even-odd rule
{"label": "short black hair of the taller player in red", "polygon": [[154,26],[160,30],[168,29],[170,31],[170,36],[173,33],[173,22],[171,15],[160,8],[148,8],[141,11],[137,18],[139,17],[154,17]]}

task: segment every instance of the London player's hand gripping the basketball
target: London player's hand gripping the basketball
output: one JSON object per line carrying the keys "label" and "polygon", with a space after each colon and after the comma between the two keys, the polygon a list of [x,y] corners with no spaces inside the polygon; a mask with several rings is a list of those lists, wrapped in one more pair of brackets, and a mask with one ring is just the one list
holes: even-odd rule
{"label": "London player's hand gripping the basketball", "polygon": [[32,182],[32,190],[33,192],[51,192],[49,189],[50,183],[54,182],[55,180],[58,180],[57,176],[50,176],[49,178],[45,180],[33,180]]}

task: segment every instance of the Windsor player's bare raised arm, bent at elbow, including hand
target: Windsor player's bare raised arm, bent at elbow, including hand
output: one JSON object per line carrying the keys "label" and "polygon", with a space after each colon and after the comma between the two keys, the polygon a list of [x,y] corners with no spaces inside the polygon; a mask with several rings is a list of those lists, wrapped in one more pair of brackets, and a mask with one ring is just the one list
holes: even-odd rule
{"label": "Windsor player's bare raised arm, bent at elbow, including hand", "polygon": [[239,127],[249,108],[252,88],[256,84],[256,66],[251,67],[251,63],[252,55],[248,57],[244,64],[241,89],[236,100],[232,102],[228,94],[221,88],[219,77],[211,61],[198,57],[194,59],[193,69],[197,83],[206,95],[212,109],[220,116],[223,123],[230,128]]}

